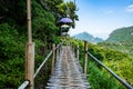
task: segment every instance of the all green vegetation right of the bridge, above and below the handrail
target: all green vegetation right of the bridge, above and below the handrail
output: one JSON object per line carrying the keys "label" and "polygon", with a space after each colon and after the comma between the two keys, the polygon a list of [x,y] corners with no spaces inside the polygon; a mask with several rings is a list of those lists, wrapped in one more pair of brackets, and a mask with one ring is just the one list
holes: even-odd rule
{"label": "all green vegetation right of the bridge, above and below the handrail", "polygon": [[[73,43],[80,46],[80,62],[83,67],[83,41],[73,40]],[[91,43],[89,43],[89,51],[121,78],[126,80],[126,82],[133,85],[133,59],[127,53]],[[94,62],[92,58],[89,58],[88,75],[92,89],[125,89],[125,87],[114,79],[105,69]]]}

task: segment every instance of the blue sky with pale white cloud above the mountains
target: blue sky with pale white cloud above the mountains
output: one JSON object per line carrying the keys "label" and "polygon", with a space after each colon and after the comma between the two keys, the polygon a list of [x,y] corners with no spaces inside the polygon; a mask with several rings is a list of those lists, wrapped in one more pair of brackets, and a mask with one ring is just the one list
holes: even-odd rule
{"label": "blue sky with pale white cloud above the mountains", "polygon": [[113,30],[133,26],[133,0],[75,0],[75,3],[79,21],[70,29],[70,36],[85,31],[105,40]]}

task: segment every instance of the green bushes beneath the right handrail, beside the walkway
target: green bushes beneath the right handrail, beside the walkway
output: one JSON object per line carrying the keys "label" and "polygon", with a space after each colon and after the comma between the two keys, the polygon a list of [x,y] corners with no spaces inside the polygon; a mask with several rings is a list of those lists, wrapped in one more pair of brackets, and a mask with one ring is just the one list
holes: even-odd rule
{"label": "green bushes beneath the right handrail, beside the walkway", "polygon": [[112,76],[106,71],[101,71],[92,61],[89,63],[88,73],[92,89],[124,89]]}

